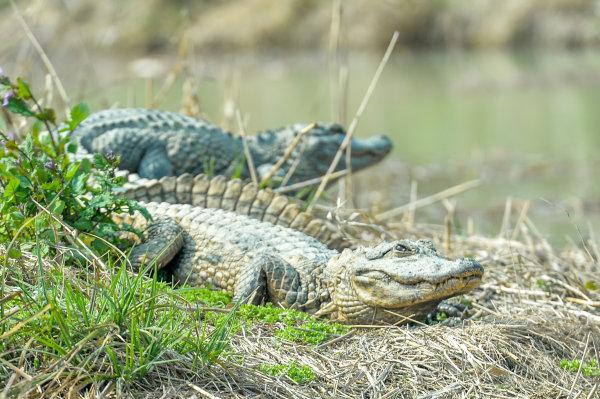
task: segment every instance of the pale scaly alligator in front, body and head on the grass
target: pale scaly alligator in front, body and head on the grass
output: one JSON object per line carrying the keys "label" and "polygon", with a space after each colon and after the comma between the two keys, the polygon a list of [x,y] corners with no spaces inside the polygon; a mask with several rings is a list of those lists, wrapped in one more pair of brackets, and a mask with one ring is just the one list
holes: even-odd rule
{"label": "pale scaly alligator in front, body and head on the grass", "polygon": [[400,324],[423,319],[483,276],[476,261],[444,259],[426,240],[340,252],[297,230],[223,209],[142,204],[153,221],[122,215],[145,232],[131,251],[134,269],[168,267],[175,282],[210,285],[235,301],[269,301],[351,324]]}

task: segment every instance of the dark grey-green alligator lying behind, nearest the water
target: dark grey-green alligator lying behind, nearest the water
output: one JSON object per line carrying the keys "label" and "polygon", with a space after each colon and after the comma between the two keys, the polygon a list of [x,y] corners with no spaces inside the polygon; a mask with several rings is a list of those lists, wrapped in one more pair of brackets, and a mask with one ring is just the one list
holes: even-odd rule
{"label": "dark grey-green alligator lying behind, nearest the water", "polygon": [[[297,137],[302,134],[302,137]],[[326,173],[345,137],[339,124],[294,124],[267,130],[245,139],[259,177],[271,176],[289,184]],[[144,178],[197,175],[250,177],[241,136],[206,121],[174,112],[122,108],[90,115],[73,132],[87,153],[120,155],[121,169]],[[387,136],[351,141],[354,171],[382,160],[391,150]],[[346,169],[342,159],[337,170]],[[273,169],[274,170],[274,169]]]}

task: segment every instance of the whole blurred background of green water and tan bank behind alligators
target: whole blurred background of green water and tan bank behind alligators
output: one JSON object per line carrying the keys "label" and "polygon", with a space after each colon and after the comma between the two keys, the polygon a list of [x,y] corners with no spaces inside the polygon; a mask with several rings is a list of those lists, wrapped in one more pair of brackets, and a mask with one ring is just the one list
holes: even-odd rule
{"label": "whole blurred background of green water and tan bank behind alligators", "polygon": [[[459,230],[493,235],[529,217],[555,243],[597,230],[598,0],[15,3],[0,0],[6,73],[56,85],[34,36],[71,103],[181,110],[234,131],[236,109],[250,131],[347,124],[398,31],[358,128],[387,133],[395,149],[356,176],[356,205],[386,210],[411,190],[479,179],[417,220],[450,215]],[[66,102],[59,94],[47,101]]]}

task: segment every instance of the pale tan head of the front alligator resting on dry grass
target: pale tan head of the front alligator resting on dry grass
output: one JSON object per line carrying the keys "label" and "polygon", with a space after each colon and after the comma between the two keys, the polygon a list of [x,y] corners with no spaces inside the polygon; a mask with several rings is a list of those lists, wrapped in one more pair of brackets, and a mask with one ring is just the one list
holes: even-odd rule
{"label": "pale tan head of the front alligator resting on dry grass", "polygon": [[446,298],[481,282],[474,260],[440,257],[427,240],[384,242],[344,250],[325,270],[333,319],[354,324],[422,319]]}

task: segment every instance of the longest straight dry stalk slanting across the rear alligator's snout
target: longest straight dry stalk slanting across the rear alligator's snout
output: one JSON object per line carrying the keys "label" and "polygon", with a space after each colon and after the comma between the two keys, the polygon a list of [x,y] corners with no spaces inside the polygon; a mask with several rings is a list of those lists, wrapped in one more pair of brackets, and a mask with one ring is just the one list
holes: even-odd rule
{"label": "longest straight dry stalk slanting across the rear alligator's snout", "polygon": [[356,130],[356,126],[358,125],[358,121],[360,120],[360,117],[362,116],[365,108],[367,107],[367,104],[369,103],[369,99],[371,98],[371,95],[373,94],[373,91],[375,90],[375,86],[377,85],[377,82],[379,81],[379,77],[381,76],[381,73],[383,72],[383,68],[385,68],[385,65],[387,64],[388,60],[390,59],[390,56],[392,55],[392,50],[394,50],[394,47],[396,46],[396,42],[398,41],[398,36],[399,36],[398,31],[394,32],[394,35],[392,36],[392,39],[390,40],[390,44],[388,44],[385,54],[383,55],[383,58],[381,59],[381,62],[379,63],[379,66],[377,67],[377,70],[375,71],[375,75],[373,76],[373,79],[371,80],[371,84],[367,88],[367,92],[365,93],[365,96],[363,97],[362,102],[360,103],[360,106],[358,107],[358,110],[356,111],[356,114],[354,115],[354,119],[352,119],[352,122],[350,123],[350,126],[348,127],[348,131],[346,132],[346,137],[344,137],[344,141],[342,141],[340,148],[338,148],[337,152],[335,153],[333,161],[331,162],[331,165],[329,165],[329,169],[327,170],[327,173],[325,174],[325,178],[321,181],[321,184],[319,185],[319,188],[317,188],[317,192],[315,193],[315,196],[312,199],[311,204],[308,206],[308,210],[312,209],[313,204],[319,199],[321,194],[323,194],[323,191],[325,190],[325,187],[327,186],[327,183],[329,182],[331,174],[335,171],[335,168],[337,168],[337,165],[340,162],[342,153],[344,152],[344,150],[346,149],[348,144],[350,144],[350,142],[352,141],[352,136],[354,135],[354,131]]}

